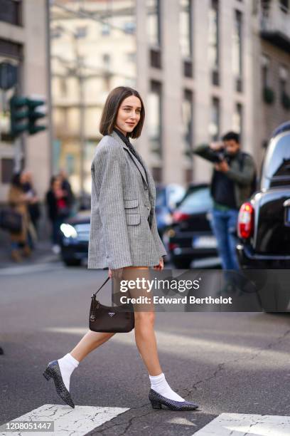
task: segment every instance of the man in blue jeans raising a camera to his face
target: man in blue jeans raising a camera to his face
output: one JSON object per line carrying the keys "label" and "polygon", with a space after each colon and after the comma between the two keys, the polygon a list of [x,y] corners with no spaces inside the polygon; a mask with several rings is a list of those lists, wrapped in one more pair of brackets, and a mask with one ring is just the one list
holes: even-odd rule
{"label": "man in blue jeans raising a camera to his face", "polygon": [[254,160],[240,150],[240,136],[235,132],[226,133],[222,142],[200,145],[193,152],[214,164],[210,183],[213,197],[211,224],[218,242],[222,269],[237,270],[237,216],[242,203],[255,190]]}

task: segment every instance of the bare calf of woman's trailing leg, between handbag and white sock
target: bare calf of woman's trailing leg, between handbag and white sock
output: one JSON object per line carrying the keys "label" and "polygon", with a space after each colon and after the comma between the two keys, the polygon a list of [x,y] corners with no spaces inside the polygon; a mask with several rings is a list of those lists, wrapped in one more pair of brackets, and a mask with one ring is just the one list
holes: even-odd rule
{"label": "bare calf of woman's trailing leg, between handbag and white sock", "polygon": [[85,336],[82,337],[79,343],[70,351],[70,355],[77,359],[79,362],[85,358],[95,348],[100,347],[102,343],[105,343],[112,338],[115,333],[97,333],[96,331],[88,331]]}

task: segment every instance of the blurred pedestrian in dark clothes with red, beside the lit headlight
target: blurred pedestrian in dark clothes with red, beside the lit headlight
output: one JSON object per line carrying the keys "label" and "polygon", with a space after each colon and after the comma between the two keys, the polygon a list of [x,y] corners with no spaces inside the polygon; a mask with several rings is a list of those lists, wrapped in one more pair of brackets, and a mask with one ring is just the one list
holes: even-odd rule
{"label": "blurred pedestrian in dark clothes with red, beside the lit headlight", "polygon": [[48,208],[48,218],[52,226],[51,240],[53,252],[60,252],[60,225],[70,215],[70,208],[67,202],[67,192],[62,188],[60,177],[53,176],[50,179],[50,189],[46,193],[46,204]]}

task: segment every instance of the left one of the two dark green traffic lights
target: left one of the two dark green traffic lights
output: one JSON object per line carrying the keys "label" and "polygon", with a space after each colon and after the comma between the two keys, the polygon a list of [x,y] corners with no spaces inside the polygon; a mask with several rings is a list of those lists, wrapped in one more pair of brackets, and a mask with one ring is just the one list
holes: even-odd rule
{"label": "left one of the two dark green traffic lights", "polygon": [[16,137],[28,130],[27,98],[14,95],[10,99],[11,136]]}

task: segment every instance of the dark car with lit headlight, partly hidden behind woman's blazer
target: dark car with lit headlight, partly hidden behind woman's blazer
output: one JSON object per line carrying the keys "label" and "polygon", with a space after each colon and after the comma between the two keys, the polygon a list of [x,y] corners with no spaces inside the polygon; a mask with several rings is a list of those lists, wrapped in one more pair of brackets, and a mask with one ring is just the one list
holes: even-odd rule
{"label": "dark car with lit headlight, partly hidden behind woman's blazer", "polygon": [[78,212],[60,226],[60,255],[68,266],[78,266],[87,259],[90,237],[90,210]]}

